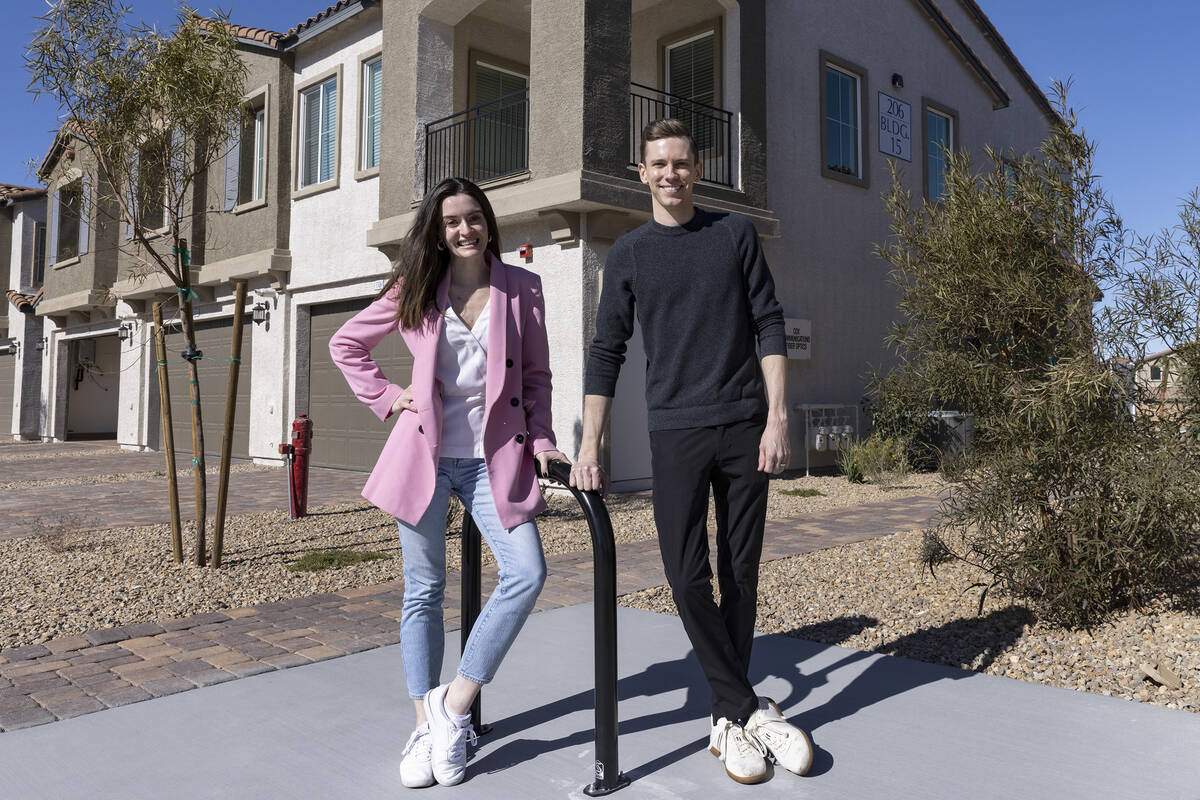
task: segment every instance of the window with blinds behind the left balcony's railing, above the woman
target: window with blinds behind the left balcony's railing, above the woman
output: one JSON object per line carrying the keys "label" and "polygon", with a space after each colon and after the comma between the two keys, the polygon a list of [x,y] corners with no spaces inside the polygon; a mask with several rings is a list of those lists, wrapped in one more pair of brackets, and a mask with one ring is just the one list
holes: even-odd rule
{"label": "window with blinds behind the left balcony's railing, above the woman", "polygon": [[475,62],[475,128],[472,137],[476,180],[488,180],[528,168],[529,78]]}

